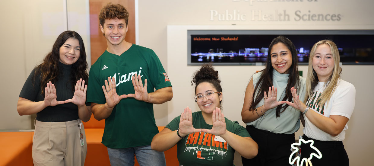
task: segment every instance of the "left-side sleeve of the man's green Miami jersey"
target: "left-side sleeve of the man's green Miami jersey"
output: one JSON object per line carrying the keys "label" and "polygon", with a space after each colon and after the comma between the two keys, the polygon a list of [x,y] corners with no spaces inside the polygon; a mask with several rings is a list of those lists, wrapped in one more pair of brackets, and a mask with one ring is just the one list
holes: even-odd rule
{"label": "left-side sleeve of the man's green Miami jersey", "polygon": [[98,70],[96,66],[92,65],[89,76],[88,76],[88,85],[87,85],[87,103],[97,103],[105,104],[106,99],[104,92],[102,91],[102,84],[98,77]]}

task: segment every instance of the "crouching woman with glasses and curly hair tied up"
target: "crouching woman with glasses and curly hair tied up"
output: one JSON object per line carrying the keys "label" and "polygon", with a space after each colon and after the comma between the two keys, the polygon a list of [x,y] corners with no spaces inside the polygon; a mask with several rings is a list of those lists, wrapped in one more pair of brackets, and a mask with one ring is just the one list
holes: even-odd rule
{"label": "crouching woman with glasses and curly hair tied up", "polygon": [[166,151],[177,144],[180,165],[233,165],[234,152],[245,158],[257,155],[258,146],[239,123],[225,118],[221,112],[223,99],[218,71],[204,64],[194,74],[195,102],[201,111],[184,108],[152,139],[151,147]]}

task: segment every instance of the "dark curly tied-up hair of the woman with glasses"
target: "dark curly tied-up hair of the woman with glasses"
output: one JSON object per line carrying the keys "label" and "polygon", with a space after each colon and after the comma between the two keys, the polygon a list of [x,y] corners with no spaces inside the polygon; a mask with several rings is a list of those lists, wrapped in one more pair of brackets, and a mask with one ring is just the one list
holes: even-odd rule
{"label": "dark curly tied-up hair of the woman with glasses", "polygon": [[[212,86],[217,90],[217,92],[222,92],[221,80],[218,78],[218,71],[214,70],[212,63],[201,65],[200,70],[196,71],[193,74],[191,85],[195,83],[195,94],[196,94],[197,85],[203,82],[212,84]],[[223,99],[220,101],[221,110],[222,110],[222,106],[221,106],[222,101]]]}

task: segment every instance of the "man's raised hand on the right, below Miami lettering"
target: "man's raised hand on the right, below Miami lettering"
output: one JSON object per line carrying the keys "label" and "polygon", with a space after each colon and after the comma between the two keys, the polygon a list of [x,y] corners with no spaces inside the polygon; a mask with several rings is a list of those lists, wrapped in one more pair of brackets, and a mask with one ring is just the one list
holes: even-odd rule
{"label": "man's raised hand on the right, below Miami lettering", "polygon": [[143,82],[141,80],[141,76],[135,74],[135,77],[132,76],[132,85],[134,86],[135,93],[130,93],[127,96],[129,98],[135,98],[139,101],[148,101],[148,92],[147,92],[147,79],[144,80],[144,87]]}

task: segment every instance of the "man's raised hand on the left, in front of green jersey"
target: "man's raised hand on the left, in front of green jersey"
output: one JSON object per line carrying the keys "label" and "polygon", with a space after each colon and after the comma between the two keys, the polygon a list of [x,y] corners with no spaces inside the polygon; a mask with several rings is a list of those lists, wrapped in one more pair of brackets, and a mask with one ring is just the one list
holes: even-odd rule
{"label": "man's raised hand on the left, in front of green jersey", "polygon": [[[108,84],[109,83],[109,84]],[[127,98],[127,95],[118,95],[116,92],[116,79],[112,77],[108,77],[108,80],[105,80],[105,87],[102,86],[102,90],[104,91],[105,99],[107,100],[107,105],[109,108],[113,108],[116,106],[121,99]]]}

